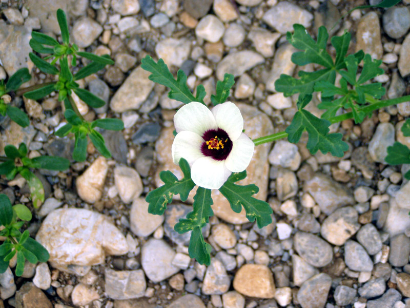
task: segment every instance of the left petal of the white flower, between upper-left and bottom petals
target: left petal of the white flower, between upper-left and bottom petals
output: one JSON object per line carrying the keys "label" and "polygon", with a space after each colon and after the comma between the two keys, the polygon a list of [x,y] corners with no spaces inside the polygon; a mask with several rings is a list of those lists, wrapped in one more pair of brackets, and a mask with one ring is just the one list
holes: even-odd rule
{"label": "left petal of the white flower, between upper-left and bottom petals", "polygon": [[171,147],[171,155],[175,164],[179,164],[181,158],[185,158],[189,165],[192,166],[194,161],[203,157],[201,145],[203,139],[197,133],[183,130],[175,136]]}

